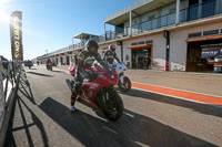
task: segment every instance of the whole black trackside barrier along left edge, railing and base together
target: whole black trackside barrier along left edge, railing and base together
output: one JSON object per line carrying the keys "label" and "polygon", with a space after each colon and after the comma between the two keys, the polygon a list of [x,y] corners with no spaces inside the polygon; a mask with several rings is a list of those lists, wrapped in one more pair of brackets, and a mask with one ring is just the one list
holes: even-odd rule
{"label": "whole black trackside barrier along left edge, railing and base together", "polygon": [[0,146],[3,146],[4,143],[20,72],[20,62],[0,60]]}

